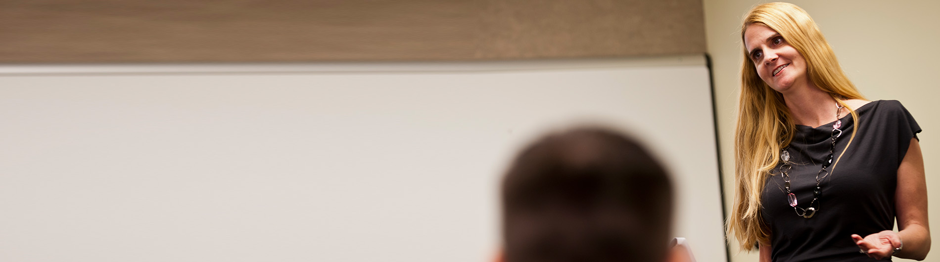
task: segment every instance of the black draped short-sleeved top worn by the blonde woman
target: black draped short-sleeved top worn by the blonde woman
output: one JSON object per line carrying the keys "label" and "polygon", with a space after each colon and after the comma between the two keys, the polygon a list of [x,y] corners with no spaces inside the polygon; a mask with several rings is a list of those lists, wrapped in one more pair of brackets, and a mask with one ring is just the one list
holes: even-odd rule
{"label": "black draped short-sleeved top worn by the blonde woman", "polygon": [[[818,210],[812,218],[798,216],[789,205],[778,170],[782,162],[774,176],[767,177],[760,204],[771,230],[773,261],[877,261],[859,253],[851,236],[864,238],[894,228],[898,167],[920,127],[897,100],[871,101],[855,112],[859,125],[852,146],[820,182],[822,193],[813,204]],[[849,144],[855,125],[852,115],[845,110],[842,114],[846,115],[841,117],[844,133],[836,141],[835,159]],[[834,123],[818,128],[796,126],[788,151],[791,193],[796,194],[797,207],[809,208],[813,199],[816,175],[832,146]]]}

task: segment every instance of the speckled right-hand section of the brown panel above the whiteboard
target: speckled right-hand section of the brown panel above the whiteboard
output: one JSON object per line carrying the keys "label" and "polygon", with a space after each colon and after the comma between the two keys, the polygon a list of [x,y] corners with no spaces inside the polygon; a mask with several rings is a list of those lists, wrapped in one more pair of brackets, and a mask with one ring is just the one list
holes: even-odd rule
{"label": "speckled right-hand section of the brown panel above the whiteboard", "polygon": [[478,58],[704,54],[699,0],[485,0]]}

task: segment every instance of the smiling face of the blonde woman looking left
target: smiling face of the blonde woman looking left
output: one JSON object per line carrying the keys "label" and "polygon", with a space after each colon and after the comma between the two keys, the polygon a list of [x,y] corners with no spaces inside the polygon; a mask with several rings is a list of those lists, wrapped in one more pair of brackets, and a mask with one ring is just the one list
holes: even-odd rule
{"label": "smiling face of the blonde woman looking left", "polygon": [[777,92],[808,84],[807,60],[774,29],[760,23],[747,26],[744,47],[760,79]]}

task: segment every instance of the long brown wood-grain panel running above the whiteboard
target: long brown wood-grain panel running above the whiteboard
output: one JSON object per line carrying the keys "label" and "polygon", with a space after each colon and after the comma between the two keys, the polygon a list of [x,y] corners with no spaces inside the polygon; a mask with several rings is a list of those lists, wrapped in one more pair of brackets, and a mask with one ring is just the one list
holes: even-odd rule
{"label": "long brown wood-grain panel running above the whiteboard", "polygon": [[0,63],[701,54],[700,0],[5,0]]}

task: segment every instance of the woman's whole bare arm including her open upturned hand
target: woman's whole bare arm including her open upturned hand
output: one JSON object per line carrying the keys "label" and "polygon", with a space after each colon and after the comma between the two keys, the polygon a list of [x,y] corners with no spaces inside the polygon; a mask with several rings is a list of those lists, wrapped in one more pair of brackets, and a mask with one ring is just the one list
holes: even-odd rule
{"label": "woman's whole bare arm including her open upturned hand", "polygon": [[895,248],[903,248],[895,256],[923,260],[931,250],[931,230],[927,221],[927,184],[924,158],[917,139],[911,139],[901,166],[898,167],[898,188],[895,209],[899,232],[885,230],[862,239],[852,235],[855,244],[870,257],[882,259]]}

